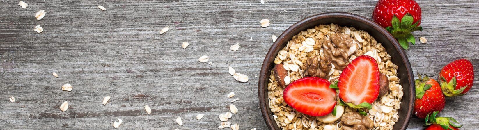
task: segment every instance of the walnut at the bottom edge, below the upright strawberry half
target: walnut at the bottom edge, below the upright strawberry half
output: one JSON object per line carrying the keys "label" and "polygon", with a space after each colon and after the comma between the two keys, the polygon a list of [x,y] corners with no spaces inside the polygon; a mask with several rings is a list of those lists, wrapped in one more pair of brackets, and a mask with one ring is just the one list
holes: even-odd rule
{"label": "walnut at the bottom edge, below the upright strawberry half", "polygon": [[369,130],[374,127],[373,120],[355,111],[342,115],[341,121],[344,123],[342,130]]}

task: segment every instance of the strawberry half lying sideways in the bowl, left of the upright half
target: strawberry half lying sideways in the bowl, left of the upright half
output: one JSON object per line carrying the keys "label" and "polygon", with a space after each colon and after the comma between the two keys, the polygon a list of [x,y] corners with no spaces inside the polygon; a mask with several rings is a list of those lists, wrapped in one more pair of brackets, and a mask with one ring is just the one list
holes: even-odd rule
{"label": "strawberry half lying sideways in the bowl, left of the upright half", "polygon": [[283,98],[297,111],[310,116],[324,116],[336,106],[336,90],[330,82],[318,77],[305,77],[286,87]]}

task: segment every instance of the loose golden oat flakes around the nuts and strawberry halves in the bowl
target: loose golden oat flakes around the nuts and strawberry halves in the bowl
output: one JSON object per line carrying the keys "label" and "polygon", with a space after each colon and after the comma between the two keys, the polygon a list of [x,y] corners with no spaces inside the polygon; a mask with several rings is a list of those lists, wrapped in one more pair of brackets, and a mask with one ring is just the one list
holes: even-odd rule
{"label": "loose golden oat flakes around the nuts and strawberry halves in the bowl", "polygon": [[[346,39],[347,42],[335,43],[334,39]],[[331,46],[332,44],[337,44]],[[343,47],[338,47],[343,45]],[[328,50],[325,48],[330,47]],[[335,47],[335,48],[332,48]],[[355,50],[356,49],[356,50]],[[355,51],[353,51],[355,50]],[[351,55],[338,55],[334,51],[342,51]],[[306,77],[308,69],[303,65],[307,64],[311,56],[330,56],[333,60],[331,70],[326,73],[326,79],[330,82],[338,80],[344,68],[342,62],[348,64],[356,57],[368,55],[376,59],[379,71],[385,74],[389,80],[388,88],[384,96],[378,97],[372,103],[372,109],[366,110],[367,118],[373,120],[374,126],[371,130],[392,130],[398,121],[398,110],[403,96],[402,86],[399,85],[397,77],[398,66],[392,63],[391,56],[386,49],[378,43],[371,35],[363,30],[356,30],[352,27],[341,27],[336,24],[318,25],[312,29],[301,31],[288,41],[286,47],[280,50],[275,64],[283,64],[287,70],[290,81]],[[303,68],[300,68],[303,67]],[[329,67],[327,67],[329,68]],[[307,69],[307,70],[305,70]],[[309,74],[309,73],[308,73]],[[274,70],[271,71],[268,83],[268,98],[270,110],[273,112],[276,124],[283,130],[344,130],[341,120],[332,123],[324,123],[318,118],[297,112],[288,106],[283,99],[284,87],[278,83]],[[353,108],[345,107],[344,113],[355,111]],[[342,117],[341,117],[342,118]],[[324,120],[323,120],[324,121]],[[328,122],[328,121],[325,121]]]}

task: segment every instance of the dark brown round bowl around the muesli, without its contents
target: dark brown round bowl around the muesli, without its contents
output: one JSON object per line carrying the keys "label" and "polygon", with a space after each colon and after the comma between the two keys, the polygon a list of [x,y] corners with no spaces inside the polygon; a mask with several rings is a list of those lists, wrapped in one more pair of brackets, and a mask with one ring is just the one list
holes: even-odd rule
{"label": "dark brown round bowl around the muesli, without its contents", "polygon": [[388,54],[391,55],[392,62],[399,66],[398,77],[400,79],[400,84],[403,86],[404,96],[401,100],[402,103],[399,109],[399,121],[394,125],[394,130],[406,130],[412,116],[415,94],[414,75],[412,74],[411,64],[409,64],[408,57],[404,53],[404,50],[402,50],[401,46],[399,46],[398,41],[396,41],[387,30],[365,17],[344,12],[321,13],[300,20],[286,29],[283,34],[278,37],[276,42],[274,42],[273,46],[266,54],[266,58],[264,58],[258,83],[260,107],[266,126],[268,126],[270,130],[281,130],[274,122],[273,113],[269,108],[267,90],[269,82],[268,78],[271,74],[271,70],[274,68],[273,61],[276,54],[279,50],[285,47],[286,43],[291,40],[294,35],[299,32],[313,28],[319,24],[331,23],[367,31],[377,40],[377,42],[382,43]]}

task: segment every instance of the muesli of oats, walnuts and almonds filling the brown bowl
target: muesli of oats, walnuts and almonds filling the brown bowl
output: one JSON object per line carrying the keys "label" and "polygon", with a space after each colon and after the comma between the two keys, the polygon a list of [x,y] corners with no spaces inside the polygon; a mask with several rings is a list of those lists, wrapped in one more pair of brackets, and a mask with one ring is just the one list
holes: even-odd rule
{"label": "muesli of oats, walnuts and almonds filling the brown bowl", "polygon": [[[336,116],[314,117],[298,112],[285,102],[283,92],[288,84],[304,77],[319,77],[334,83],[342,69],[362,55],[376,60],[379,72],[386,77],[381,85],[387,86],[381,89],[377,100],[370,103],[370,110],[361,109],[366,116],[355,108],[341,106],[343,109],[335,108]],[[398,66],[391,62],[381,43],[363,30],[329,24],[301,31],[279,51],[274,63],[284,70],[271,71],[269,105],[274,120],[283,130],[392,130],[399,119],[403,89],[397,77]]]}

